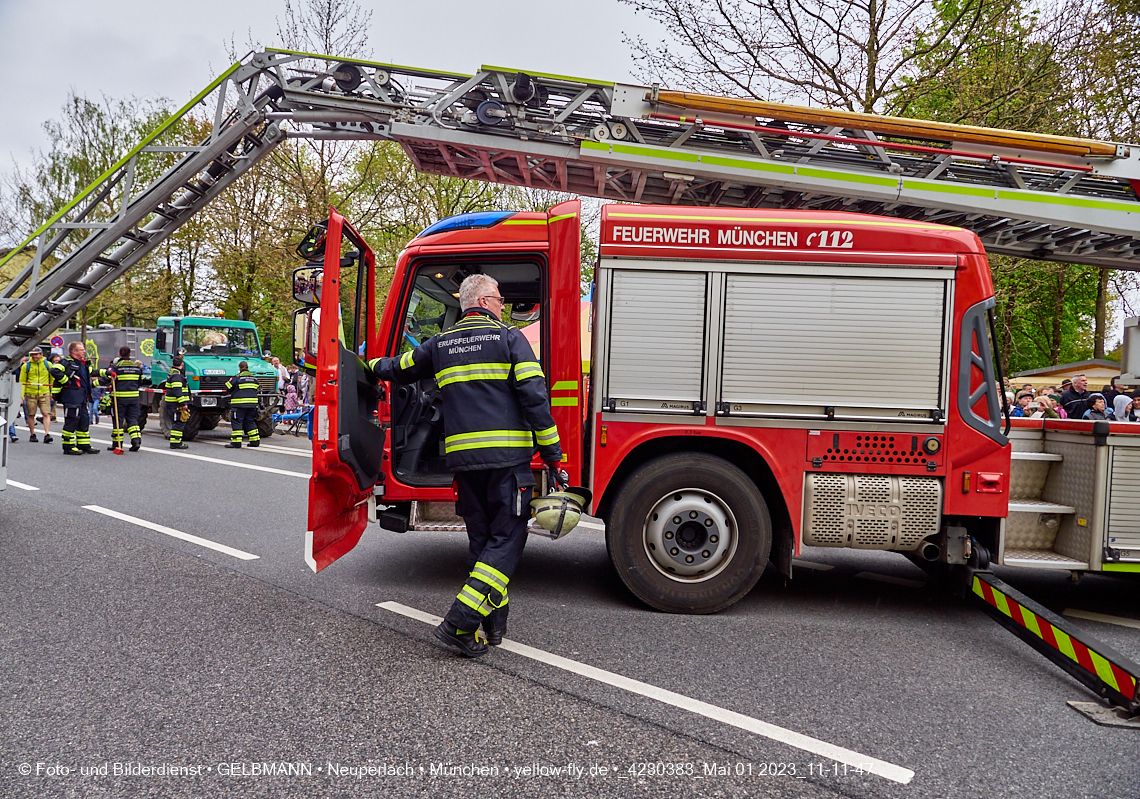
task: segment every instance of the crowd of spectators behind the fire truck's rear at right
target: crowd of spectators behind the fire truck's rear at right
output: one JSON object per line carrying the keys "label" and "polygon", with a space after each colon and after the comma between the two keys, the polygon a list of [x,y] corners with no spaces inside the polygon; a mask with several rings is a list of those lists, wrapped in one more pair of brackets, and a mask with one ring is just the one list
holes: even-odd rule
{"label": "crowd of spectators behind the fire truck's rear at right", "polygon": [[1029,383],[1018,389],[1005,380],[1005,398],[1012,410],[1010,416],[1047,419],[1085,419],[1108,422],[1140,422],[1140,390],[1127,391],[1117,386],[1118,377],[1101,388],[1089,391],[1089,378],[1076,375],[1062,380],[1060,385],[1034,389]]}

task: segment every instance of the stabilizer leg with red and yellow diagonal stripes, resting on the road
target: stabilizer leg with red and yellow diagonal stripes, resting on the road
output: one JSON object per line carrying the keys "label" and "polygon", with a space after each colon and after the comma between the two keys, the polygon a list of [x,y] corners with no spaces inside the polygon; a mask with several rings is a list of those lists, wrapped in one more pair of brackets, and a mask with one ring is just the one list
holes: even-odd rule
{"label": "stabilizer leg with red and yellow diagonal stripes, resting on the road", "polygon": [[1121,721],[1140,723],[1140,665],[988,572],[974,572],[970,593],[999,625],[1115,708]]}

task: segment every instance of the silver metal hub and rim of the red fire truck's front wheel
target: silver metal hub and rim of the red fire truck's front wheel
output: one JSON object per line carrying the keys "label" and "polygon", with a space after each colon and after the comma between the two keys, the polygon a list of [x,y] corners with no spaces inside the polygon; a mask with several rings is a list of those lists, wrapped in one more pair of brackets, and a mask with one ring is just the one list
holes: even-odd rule
{"label": "silver metal hub and rim of the red fire truck's front wheel", "polygon": [[682,489],[661,497],[645,519],[645,553],[667,577],[699,582],[728,564],[736,549],[736,520],[711,491]]}

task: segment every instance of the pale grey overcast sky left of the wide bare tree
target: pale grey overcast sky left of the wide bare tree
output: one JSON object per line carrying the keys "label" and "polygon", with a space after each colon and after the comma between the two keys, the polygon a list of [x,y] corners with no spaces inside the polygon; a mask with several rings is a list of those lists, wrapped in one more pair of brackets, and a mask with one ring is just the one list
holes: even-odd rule
{"label": "pale grey overcast sky left of the wide bare tree", "polygon": [[[630,80],[622,32],[657,27],[618,0],[361,2],[374,60],[455,72],[481,64]],[[47,148],[41,128],[74,89],[181,106],[228,65],[226,42],[277,44],[284,0],[0,0],[0,170]]]}

